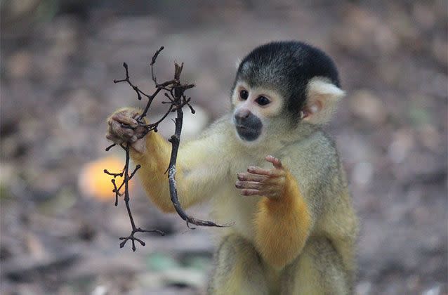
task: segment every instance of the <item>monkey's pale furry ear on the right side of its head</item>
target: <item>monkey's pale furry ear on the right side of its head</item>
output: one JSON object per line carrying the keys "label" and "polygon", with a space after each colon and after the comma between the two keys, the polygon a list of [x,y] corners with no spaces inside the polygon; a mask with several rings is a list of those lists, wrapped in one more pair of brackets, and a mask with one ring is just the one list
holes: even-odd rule
{"label": "monkey's pale furry ear on the right side of its head", "polygon": [[301,118],[312,124],[325,124],[333,115],[338,101],[345,92],[323,79],[311,79],[307,87],[307,100]]}

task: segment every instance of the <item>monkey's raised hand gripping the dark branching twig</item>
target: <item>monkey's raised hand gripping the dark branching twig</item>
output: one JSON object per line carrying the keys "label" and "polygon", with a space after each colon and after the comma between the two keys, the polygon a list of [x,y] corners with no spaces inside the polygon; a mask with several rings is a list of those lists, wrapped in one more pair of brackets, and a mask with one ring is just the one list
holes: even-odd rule
{"label": "monkey's raised hand gripping the dark branching twig", "polygon": [[114,143],[130,143],[137,152],[145,152],[145,122],[137,122],[140,111],[133,107],[117,110],[107,119],[106,138]]}

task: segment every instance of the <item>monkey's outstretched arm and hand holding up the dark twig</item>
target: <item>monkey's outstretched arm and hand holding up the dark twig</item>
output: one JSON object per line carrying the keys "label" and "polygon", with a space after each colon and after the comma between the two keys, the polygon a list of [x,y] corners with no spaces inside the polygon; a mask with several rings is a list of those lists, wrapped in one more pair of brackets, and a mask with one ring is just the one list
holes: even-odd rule
{"label": "monkey's outstretched arm and hand holding up the dark twig", "polygon": [[[138,115],[138,111],[131,108],[112,114],[108,120],[110,128],[107,138],[119,142],[120,139],[117,138],[121,137],[121,142],[131,142],[131,159],[141,166],[138,175],[143,188],[159,209],[164,212],[173,212],[175,209],[171,203],[168,176],[165,173],[169,166],[171,143],[159,133],[152,131],[144,138],[135,140],[133,136],[136,134],[132,133],[132,129],[121,130],[123,129],[121,124],[133,126],[135,120],[132,121],[129,117],[135,118],[136,114]],[[136,132],[138,133],[138,130]],[[179,201],[183,208],[211,197],[211,192],[224,180],[227,168],[220,161],[223,150],[216,148],[220,146],[219,143],[222,140],[223,133],[213,132],[205,133],[198,140],[180,145],[176,162],[176,183]]]}

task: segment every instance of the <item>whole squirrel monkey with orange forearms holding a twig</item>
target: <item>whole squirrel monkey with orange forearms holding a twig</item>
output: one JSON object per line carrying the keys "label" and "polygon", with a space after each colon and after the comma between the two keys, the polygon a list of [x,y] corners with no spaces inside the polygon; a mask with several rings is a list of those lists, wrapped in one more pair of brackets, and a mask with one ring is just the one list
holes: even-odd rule
{"label": "whole squirrel monkey with orange forearms holding a twig", "polygon": [[[232,112],[181,143],[182,206],[210,201],[214,221],[235,223],[216,230],[209,294],[353,293],[357,218],[335,143],[321,128],[344,96],[339,87],[319,49],[259,46],[239,64]],[[164,174],[171,145],[154,132],[138,139],[138,114],[114,112],[107,138],[131,143],[147,194],[174,212]]]}

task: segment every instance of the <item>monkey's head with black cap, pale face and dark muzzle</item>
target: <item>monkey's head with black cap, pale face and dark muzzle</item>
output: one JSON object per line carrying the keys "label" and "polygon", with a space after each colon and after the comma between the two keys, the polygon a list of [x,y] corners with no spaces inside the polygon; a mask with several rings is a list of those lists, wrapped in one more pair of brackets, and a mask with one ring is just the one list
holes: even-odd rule
{"label": "monkey's head with black cap, pale face and dark muzzle", "polygon": [[244,142],[325,124],[344,95],[327,54],[298,41],[255,48],[239,64],[232,88],[233,122]]}

